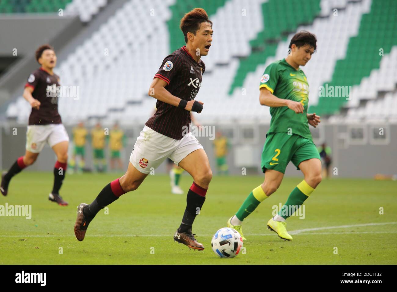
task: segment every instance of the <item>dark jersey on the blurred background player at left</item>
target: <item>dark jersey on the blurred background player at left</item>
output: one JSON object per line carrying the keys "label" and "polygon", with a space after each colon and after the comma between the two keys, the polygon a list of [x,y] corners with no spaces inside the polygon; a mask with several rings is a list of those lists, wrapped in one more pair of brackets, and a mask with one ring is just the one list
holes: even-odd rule
{"label": "dark jersey on the blurred background player at left", "polygon": [[37,69],[29,75],[25,84],[25,87],[28,86],[33,88],[33,98],[40,101],[39,109],[32,108],[29,125],[61,124],[56,94],[56,87],[60,86],[58,75],[50,75],[42,68]]}

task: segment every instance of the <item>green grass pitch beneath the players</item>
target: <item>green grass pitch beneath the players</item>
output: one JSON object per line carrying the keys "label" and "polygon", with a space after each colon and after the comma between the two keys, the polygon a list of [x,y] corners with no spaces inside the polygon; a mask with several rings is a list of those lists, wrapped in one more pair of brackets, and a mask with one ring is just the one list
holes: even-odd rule
{"label": "green grass pitch beneath the players", "polygon": [[[119,174],[121,176],[121,174]],[[285,203],[302,178],[285,178],[243,224],[245,253],[220,259],[212,235],[225,227],[262,176],[214,176],[193,232],[204,251],[173,241],[186,195],[170,193],[166,175],[149,175],[137,191],[101,210],[85,240],[73,233],[77,205],[91,203],[117,174],[67,174],[61,195],[69,206],[48,201],[53,176],[22,172],[0,205],[32,205],[32,218],[0,217],[0,264],[397,264],[397,182],[323,180],[305,202],[305,218],[290,217],[284,242],[266,228],[272,206]],[[183,175],[188,190],[192,178]],[[384,214],[380,214],[380,208]],[[62,254],[60,253],[62,248]],[[337,251],[337,253],[335,253]]]}

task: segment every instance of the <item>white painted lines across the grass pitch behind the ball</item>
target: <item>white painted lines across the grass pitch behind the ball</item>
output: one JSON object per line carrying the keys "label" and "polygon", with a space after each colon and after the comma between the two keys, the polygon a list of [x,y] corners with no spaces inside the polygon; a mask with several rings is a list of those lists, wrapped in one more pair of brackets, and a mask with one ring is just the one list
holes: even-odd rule
{"label": "white painted lines across the grass pitch behind the ball", "polygon": [[[306,229],[297,229],[292,230],[290,234],[301,234],[301,232],[306,231],[317,231],[317,230],[326,230],[326,229],[335,229],[335,228],[351,228],[351,227],[360,227],[360,226],[377,226],[377,225],[386,225],[386,224],[397,224],[397,222],[385,222],[385,223],[366,223],[366,224],[352,224],[352,225],[340,225],[340,226],[328,226],[328,227],[316,227],[316,228],[306,228]],[[301,235],[310,235],[310,234],[359,234],[359,233],[397,233],[394,231],[364,231],[364,232],[323,232],[323,233],[304,233]],[[199,234],[199,236],[212,236],[213,234]],[[274,235],[272,234],[246,234],[247,236],[268,236]],[[0,235],[0,237],[68,237],[74,235],[55,235],[55,234],[45,234],[45,235]],[[147,236],[170,236],[170,234],[93,234],[89,235],[89,237],[147,237]]]}

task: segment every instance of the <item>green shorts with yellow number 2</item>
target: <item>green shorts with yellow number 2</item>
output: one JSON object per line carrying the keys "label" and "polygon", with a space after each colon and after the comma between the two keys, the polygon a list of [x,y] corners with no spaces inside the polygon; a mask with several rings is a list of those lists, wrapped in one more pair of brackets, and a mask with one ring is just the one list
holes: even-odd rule
{"label": "green shorts with yellow number 2", "polygon": [[263,145],[260,166],[263,172],[266,169],[273,169],[285,173],[290,161],[299,170],[298,165],[302,161],[312,158],[320,159],[320,154],[312,140],[297,134],[288,135],[286,132],[268,133]]}

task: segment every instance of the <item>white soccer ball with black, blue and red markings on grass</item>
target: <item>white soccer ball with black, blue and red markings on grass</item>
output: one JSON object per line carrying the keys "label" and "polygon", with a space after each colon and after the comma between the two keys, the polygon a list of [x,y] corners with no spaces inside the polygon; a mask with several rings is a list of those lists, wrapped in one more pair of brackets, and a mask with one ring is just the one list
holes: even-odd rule
{"label": "white soccer ball with black, blue and red markings on grass", "polygon": [[224,227],[212,236],[211,247],[220,257],[235,257],[243,247],[243,239],[237,230]]}

